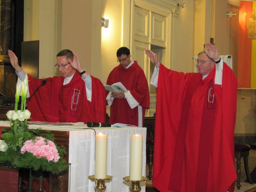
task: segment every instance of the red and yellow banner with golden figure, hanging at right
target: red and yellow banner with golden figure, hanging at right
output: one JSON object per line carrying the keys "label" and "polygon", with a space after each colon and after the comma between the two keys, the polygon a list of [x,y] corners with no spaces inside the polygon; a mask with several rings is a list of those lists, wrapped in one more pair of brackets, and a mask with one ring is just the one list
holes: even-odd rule
{"label": "red and yellow banner with golden figure, hanging at right", "polygon": [[256,89],[256,1],[240,1],[238,31],[239,88]]}

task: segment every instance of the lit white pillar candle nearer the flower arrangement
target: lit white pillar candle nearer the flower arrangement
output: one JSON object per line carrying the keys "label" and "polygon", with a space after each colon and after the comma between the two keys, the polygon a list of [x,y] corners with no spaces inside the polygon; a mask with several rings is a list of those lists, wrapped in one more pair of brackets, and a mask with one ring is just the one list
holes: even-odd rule
{"label": "lit white pillar candle nearer the flower arrangement", "polygon": [[105,179],[107,175],[107,145],[108,135],[96,135],[95,144],[95,173],[94,178]]}

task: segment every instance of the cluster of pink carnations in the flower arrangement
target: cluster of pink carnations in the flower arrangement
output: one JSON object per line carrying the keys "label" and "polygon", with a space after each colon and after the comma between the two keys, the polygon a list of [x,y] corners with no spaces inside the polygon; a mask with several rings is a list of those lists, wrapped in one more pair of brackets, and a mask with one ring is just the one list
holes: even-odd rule
{"label": "cluster of pink carnations in the flower arrangement", "polygon": [[37,158],[45,157],[48,162],[57,162],[60,159],[55,144],[43,137],[36,137],[35,140],[27,140],[20,149],[21,153],[30,152]]}

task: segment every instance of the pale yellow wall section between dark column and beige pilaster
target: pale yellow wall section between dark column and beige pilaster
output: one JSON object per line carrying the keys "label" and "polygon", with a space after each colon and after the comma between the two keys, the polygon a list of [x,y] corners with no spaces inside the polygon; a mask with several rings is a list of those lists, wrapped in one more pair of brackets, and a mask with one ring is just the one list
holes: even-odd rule
{"label": "pale yellow wall section between dark column and beige pilaster", "polygon": [[24,1],[24,41],[39,40],[39,78],[55,75],[58,2]]}

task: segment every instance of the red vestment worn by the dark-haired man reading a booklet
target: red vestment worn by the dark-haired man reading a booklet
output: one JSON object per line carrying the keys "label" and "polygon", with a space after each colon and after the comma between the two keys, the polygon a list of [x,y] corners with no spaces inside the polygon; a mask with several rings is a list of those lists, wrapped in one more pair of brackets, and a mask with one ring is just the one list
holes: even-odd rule
{"label": "red vestment worn by the dark-haired man reading a booklet", "polygon": [[[134,61],[129,68],[122,68],[121,65],[118,65],[110,72],[107,84],[112,85],[117,82],[121,82],[140,104],[142,107],[142,120],[144,120],[145,110],[149,108],[149,90],[144,71],[137,61]],[[109,123],[124,123],[138,126],[138,121],[138,106],[131,109],[125,98],[113,100],[110,106]]]}

